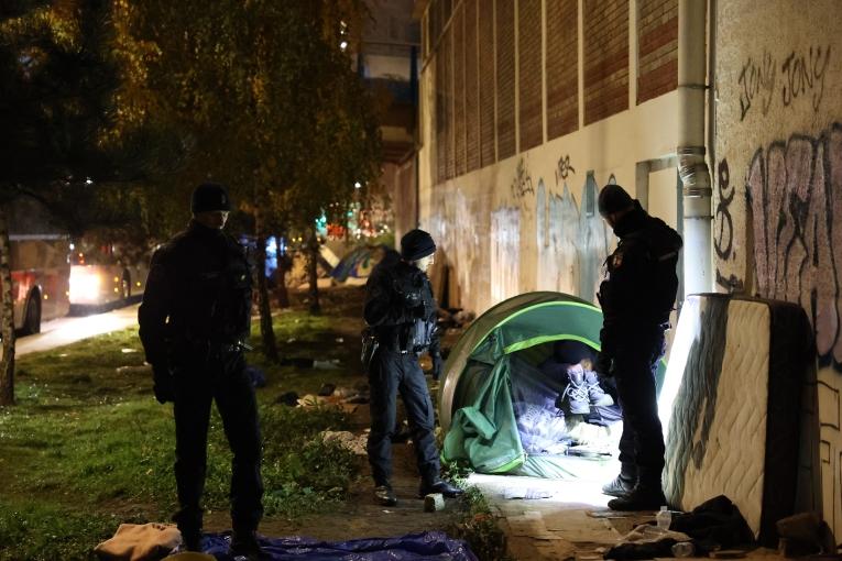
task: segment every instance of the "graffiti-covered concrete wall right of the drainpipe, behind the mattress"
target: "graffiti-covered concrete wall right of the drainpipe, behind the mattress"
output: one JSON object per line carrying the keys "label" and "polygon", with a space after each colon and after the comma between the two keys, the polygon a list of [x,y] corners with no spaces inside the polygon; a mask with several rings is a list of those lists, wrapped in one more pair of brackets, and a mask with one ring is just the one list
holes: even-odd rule
{"label": "graffiti-covered concrete wall right of the drainpipe, behind the mattress", "polygon": [[[800,304],[816,331],[823,513],[842,535],[842,4],[717,2],[720,290]],[[840,223],[835,224],[835,220]]]}

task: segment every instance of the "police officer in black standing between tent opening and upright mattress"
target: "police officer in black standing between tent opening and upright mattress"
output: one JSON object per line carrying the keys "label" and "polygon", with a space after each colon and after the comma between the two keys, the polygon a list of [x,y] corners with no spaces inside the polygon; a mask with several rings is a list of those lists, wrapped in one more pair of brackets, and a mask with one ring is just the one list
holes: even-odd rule
{"label": "police officer in black standing between tent opening and upright mattress", "polygon": [[598,295],[604,320],[597,371],[614,377],[623,411],[620,475],[602,491],[617,497],[609,502],[614,510],[656,509],[666,501],[655,372],[678,289],[681,238],[619,185],[600,191],[599,210],[620,242]]}

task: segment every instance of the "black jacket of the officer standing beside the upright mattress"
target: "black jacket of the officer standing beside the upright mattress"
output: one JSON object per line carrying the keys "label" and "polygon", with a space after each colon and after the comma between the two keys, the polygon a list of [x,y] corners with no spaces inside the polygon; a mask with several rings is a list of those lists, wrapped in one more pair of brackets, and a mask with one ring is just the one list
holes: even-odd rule
{"label": "black jacket of the officer standing beside the upright mattress", "polygon": [[675,230],[647,215],[637,201],[616,223],[614,234],[620,243],[605,260],[608,277],[599,292],[604,316],[602,345],[609,352],[620,334],[669,321],[682,245]]}

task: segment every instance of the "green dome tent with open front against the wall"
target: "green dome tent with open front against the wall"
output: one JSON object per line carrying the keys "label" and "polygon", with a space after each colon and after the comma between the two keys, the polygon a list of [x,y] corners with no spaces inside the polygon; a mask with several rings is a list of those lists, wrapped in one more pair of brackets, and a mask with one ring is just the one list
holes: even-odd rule
{"label": "green dome tent with open front against the wall", "polygon": [[[561,293],[527,293],[480,316],[450,352],[439,388],[446,433],[442,460],[468,461],[481,473],[575,476],[565,458],[527,454],[521,442],[512,387],[537,372],[557,341],[599,351],[602,312]],[[664,378],[661,362],[657,384]],[[556,396],[549,396],[550,403]]]}

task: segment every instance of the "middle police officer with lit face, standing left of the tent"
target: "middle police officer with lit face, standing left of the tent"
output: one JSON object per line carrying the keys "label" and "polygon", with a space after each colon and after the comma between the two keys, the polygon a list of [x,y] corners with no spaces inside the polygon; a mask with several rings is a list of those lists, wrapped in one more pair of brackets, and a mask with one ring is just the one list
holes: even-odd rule
{"label": "middle police officer with lit face, standing left of the tent", "polygon": [[374,352],[363,361],[371,387],[371,432],[368,453],[374,477],[374,499],[393,506],[392,436],[397,394],[404,400],[420,472],[419,497],[441,493],[455,497],[462,490],[441,480],[434,436],[435,415],[418,355],[428,351],[433,376],[441,374],[442,360],[436,334],[436,302],[427,278],[436,244],[424,230],[401,239],[401,254],[391,252],[367,284],[365,322]]}

